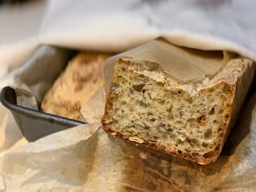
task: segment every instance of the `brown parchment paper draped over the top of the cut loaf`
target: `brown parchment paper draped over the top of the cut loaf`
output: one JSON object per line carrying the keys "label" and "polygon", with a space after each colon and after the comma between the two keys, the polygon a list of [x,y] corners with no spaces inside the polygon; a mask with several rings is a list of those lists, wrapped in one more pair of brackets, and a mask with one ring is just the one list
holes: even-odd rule
{"label": "brown parchment paper draped over the top of the cut loaf", "polygon": [[179,47],[158,38],[108,58],[104,69],[106,91],[113,75],[113,66],[118,58],[156,63],[178,82],[197,83],[214,77],[234,56],[236,54],[227,53],[225,50],[206,51]]}

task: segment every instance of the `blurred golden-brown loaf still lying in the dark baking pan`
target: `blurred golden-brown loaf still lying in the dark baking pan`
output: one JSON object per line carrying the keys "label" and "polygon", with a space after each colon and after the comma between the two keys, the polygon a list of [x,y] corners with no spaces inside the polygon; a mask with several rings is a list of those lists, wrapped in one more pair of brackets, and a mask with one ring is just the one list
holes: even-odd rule
{"label": "blurred golden-brown loaf still lying in the dark baking pan", "polygon": [[45,94],[41,109],[54,115],[81,120],[80,108],[104,85],[102,70],[108,54],[79,53]]}

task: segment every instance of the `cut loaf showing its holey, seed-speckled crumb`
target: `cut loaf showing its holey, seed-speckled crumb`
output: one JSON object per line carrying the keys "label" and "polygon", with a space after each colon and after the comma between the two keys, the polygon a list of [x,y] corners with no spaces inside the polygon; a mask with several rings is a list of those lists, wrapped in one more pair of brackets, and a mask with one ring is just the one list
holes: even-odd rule
{"label": "cut loaf showing its holey, seed-speckled crumb", "polygon": [[214,77],[179,82],[157,63],[118,58],[102,127],[137,145],[209,164],[222,150],[254,73],[251,60],[233,58]]}

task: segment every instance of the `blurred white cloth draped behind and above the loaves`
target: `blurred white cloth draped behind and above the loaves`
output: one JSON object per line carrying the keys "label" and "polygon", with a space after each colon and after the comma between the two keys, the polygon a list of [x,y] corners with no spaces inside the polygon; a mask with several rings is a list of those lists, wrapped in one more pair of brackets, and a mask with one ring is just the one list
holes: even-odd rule
{"label": "blurred white cloth draped behind and above the loaves", "polygon": [[[34,25],[40,23],[34,35],[22,39],[20,34],[10,43],[0,39],[0,64],[22,64],[39,44],[119,52],[157,37],[203,50],[233,50],[256,60],[253,0],[62,0],[39,5],[44,9],[34,8],[42,15],[34,20]],[[31,20],[33,14],[20,17]],[[4,34],[19,33],[7,30],[1,28]]]}

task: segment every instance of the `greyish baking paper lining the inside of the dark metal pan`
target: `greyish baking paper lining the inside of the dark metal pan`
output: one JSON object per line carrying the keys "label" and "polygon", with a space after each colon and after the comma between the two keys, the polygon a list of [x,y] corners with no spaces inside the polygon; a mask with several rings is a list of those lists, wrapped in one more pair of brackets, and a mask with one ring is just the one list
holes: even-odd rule
{"label": "greyish baking paper lining the inside of the dark metal pan", "polygon": [[38,104],[56,77],[63,71],[74,50],[41,46],[26,64],[6,77],[7,85],[15,88],[18,104],[39,110]]}

